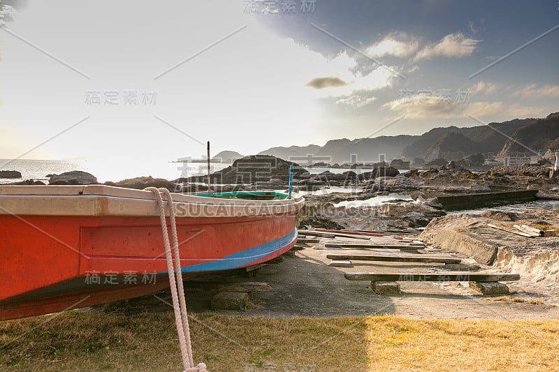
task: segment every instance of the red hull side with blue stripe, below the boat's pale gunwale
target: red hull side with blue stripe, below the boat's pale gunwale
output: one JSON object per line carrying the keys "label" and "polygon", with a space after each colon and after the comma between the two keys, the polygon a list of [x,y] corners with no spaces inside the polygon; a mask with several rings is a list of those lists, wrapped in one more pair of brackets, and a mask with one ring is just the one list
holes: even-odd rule
{"label": "red hull side with blue stripe, below the boat's pale gunwale", "polygon": [[[205,199],[209,198],[200,200]],[[79,200],[85,199],[75,201]],[[14,204],[1,201],[0,197],[4,212],[0,215],[0,320],[138,297],[168,287],[158,216],[129,216],[126,207],[124,216],[22,215],[8,208],[14,209]],[[119,202],[135,204],[136,200]],[[227,203],[230,209],[235,205],[235,201]],[[249,267],[288,251],[297,237],[296,210],[180,216],[176,224],[183,277]]]}

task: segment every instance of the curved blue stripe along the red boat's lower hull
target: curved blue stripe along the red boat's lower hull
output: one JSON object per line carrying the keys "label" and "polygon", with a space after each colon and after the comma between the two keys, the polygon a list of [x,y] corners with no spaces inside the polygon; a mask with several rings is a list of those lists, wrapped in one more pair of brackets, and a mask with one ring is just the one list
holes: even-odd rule
{"label": "curved blue stripe along the red boat's lower hull", "polygon": [[[238,253],[233,253],[232,255],[227,255],[222,259],[203,262],[201,264],[191,265],[187,267],[182,267],[181,271],[184,273],[191,272],[202,272],[202,271],[222,271],[238,269],[239,267],[244,267],[250,265],[252,262],[260,260],[261,258],[274,253],[275,251],[288,246],[297,239],[297,229],[293,229],[288,235],[275,239],[273,241],[268,241],[268,243],[255,246],[253,248],[245,249]],[[168,271],[162,271],[159,274],[166,274]]]}

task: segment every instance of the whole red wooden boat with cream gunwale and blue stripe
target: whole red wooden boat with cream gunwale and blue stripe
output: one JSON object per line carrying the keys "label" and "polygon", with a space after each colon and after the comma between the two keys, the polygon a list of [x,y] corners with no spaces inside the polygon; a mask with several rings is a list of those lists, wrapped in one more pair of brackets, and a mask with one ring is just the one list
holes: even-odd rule
{"label": "whole red wooden boat with cream gunwale and blue stripe", "polygon": [[[183,277],[249,267],[297,239],[301,197],[173,194]],[[0,187],[0,320],[168,287],[157,201],[101,185]]]}

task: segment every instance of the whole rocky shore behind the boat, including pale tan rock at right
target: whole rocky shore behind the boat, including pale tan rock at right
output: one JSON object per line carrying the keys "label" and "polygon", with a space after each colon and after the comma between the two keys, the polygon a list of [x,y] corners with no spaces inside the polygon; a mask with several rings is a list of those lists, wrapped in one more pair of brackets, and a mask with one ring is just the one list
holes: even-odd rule
{"label": "whole rocky shore behind the boat, including pale tan rock at right", "polygon": [[[549,168],[498,167],[474,172],[447,165],[429,170],[398,171],[379,165],[373,170],[311,172],[296,163],[273,156],[248,156],[210,174],[211,190],[287,191],[293,167],[293,191],[305,194],[305,206],[297,216],[298,228],[355,229],[413,232],[423,230],[428,244],[465,255],[479,265],[522,276],[510,284],[519,293],[544,293],[559,304],[559,237],[527,238],[497,230],[488,223],[549,223],[559,228],[559,214],[542,209],[525,213],[488,211],[483,214],[448,214],[449,200],[467,205],[514,198],[559,200],[559,179],[549,178]],[[136,177],[105,182],[108,186],[143,189],[168,188],[177,193],[208,191],[208,177],[175,180]],[[24,180],[18,184],[37,184]],[[99,184],[93,174],[74,171],[50,174],[49,184]],[[498,194],[497,194],[498,193]],[[508,198],[508,199],[507,199]],[[460,204],[459,203],[459,204]],[[464,205],[462,205],[464,207]],[[517,287],[515,287],[515,285]]]}

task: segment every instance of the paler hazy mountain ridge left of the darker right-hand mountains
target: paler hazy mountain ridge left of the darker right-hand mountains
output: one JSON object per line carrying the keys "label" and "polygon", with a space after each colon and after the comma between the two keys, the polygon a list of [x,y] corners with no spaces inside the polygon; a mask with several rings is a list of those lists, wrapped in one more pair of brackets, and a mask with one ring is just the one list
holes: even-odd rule
{"label": "paler hazy mountain ridge left of the darker right-hand mountains", "polygon": [[419,136],[396,135],[356,140],[331,140],[324,146],[310,144],[305,147],[272,147],[259,155],[273,155],[295,163],[376,163],[391,160],[402,154],[402,149]]}

